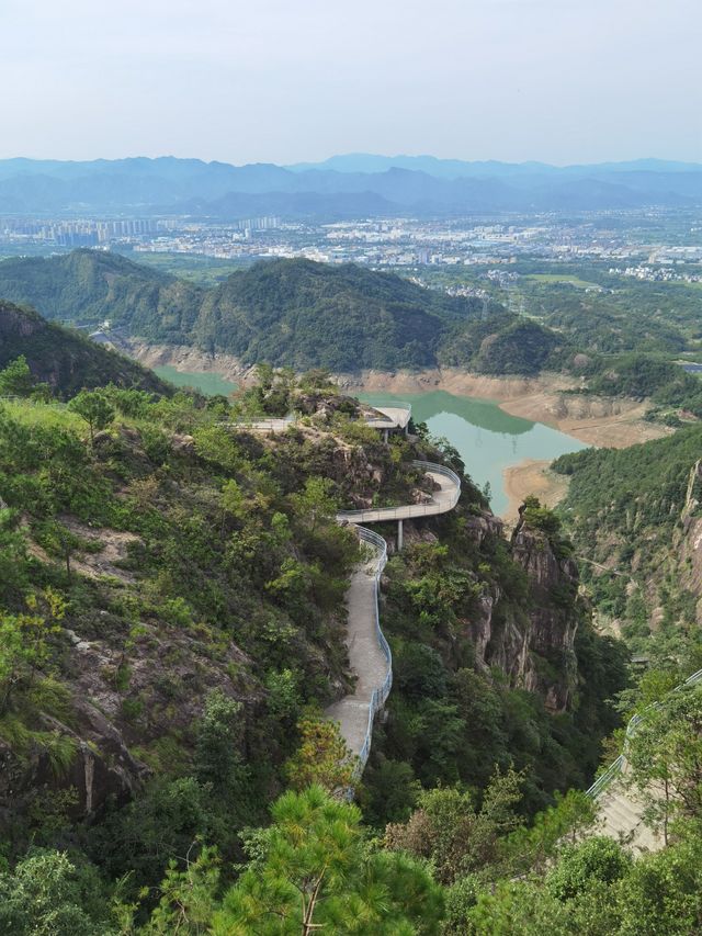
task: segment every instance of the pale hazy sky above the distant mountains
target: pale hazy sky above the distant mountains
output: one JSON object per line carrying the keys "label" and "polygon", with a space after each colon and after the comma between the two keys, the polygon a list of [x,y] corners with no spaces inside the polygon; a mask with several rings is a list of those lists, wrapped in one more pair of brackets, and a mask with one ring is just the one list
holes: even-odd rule
{"label": "pale hazy sky above the distant mountains", "polygon": [[702,161],[701,0],[0,0],[0,157]]}

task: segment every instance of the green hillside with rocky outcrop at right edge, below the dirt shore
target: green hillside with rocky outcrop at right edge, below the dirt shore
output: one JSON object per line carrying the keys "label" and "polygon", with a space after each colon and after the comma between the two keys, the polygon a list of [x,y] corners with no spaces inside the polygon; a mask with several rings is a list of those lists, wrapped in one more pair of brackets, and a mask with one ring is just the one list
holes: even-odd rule
{"label": "green hillside with rocky outcrop at right edge, below the dirt shore", "polygon": [[[699,578],[694,540],[702,429],[621,450],[588,449],[562,455],[553,467],[570,477],[563,516],[581,571],[603,621],[614,621],[637,653],[680,659],[695,668]],[[687,529],[689,528],[689,529]],[[652,627],[654,633],[652,636]],[[657,647],[657,650],[656,650]]]}

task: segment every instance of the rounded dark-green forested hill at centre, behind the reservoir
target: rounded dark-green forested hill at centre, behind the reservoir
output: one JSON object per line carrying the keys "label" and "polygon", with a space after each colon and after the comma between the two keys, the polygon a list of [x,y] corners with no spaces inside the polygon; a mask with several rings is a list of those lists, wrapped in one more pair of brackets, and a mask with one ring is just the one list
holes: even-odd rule
{"label": "rounded dark-green forested hill at centre, behind the reservoir", "polygon": [[450,326],[477,311],[475,301],[353,264],[280,260],[259,263],[215,290],[194,335],[201,347],[210,342],[250,363],[337,371],[429,366]]}

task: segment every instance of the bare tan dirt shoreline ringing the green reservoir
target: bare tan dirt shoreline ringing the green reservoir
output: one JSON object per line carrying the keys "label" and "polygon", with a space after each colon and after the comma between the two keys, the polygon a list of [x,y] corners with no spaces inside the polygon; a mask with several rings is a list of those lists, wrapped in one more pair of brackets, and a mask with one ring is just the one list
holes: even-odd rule
{"label": "bare tan dirt shoreline ringing the green reservoir", "polygon": [[[219,374],[238,384],[249,384],[253,369],[229,354],[206,354],[194,348],[149,346],[132,341],[131,353],[148,366],[170,364],[179,371]],[[645,402],[621,397],[574,394],[578,382],[562,374],[539,377],[492,377],[471,374],[454,368],[409,371],[362,371],[337,374],[339,386],[348,393],[383,392],[393,394],[446,391],[457,396],[473,396],[497,403],[506,413],[565,432],[590,446],[623,449],[647,442],[672,430],[643,416]],[[547,470],[548,462],[526,459],[505,471],[505,488],[509,507],[505,518],[513,520],[528,494],[535,494],[554,506],[567,490],[567,481]]]}

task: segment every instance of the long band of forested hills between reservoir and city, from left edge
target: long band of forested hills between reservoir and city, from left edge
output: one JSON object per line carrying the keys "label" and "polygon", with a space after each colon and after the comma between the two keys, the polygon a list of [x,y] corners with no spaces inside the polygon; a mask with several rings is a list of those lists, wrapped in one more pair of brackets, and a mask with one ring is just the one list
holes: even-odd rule
{"label": "long band of forested hills between reservoir and city, from left edge", "polygon": [[118,255],[77,250],[0,263],[0,296],[53,319],[101,324],[152,343],[192,345],[298,371],[421,369],[532,374],[567,341],[499,305],[451,297],[388,273],[308,260],[254,264],[211,289]]}

